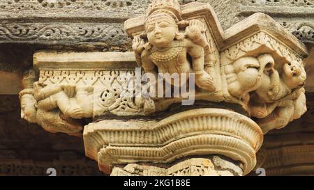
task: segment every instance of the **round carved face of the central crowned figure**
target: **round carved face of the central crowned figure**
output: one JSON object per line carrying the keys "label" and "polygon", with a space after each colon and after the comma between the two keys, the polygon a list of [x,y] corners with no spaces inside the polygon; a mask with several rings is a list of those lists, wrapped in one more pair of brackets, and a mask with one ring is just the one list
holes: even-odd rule
{"label": "round carved face of the central crowned figure", "polygon": [[154,17],[147,20],[147,38],[149,43],[154,47],[170,47],[177,32],[177,24],[170,16],[160,15],[159,17]]}

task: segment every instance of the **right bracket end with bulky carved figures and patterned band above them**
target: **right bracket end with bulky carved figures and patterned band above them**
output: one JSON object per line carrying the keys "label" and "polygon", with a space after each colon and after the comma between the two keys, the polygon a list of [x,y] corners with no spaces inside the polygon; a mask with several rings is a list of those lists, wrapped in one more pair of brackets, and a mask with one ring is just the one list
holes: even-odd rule
{"label": "right bracket end with bulky carved figures and patterned band above them", "polygon": [[[271,53],[256,52],[263,45]],[[306,112],[306,72],[292,49],[259,33],[221,55],[230,95],[244,102],[264,133],[285,127]]]}

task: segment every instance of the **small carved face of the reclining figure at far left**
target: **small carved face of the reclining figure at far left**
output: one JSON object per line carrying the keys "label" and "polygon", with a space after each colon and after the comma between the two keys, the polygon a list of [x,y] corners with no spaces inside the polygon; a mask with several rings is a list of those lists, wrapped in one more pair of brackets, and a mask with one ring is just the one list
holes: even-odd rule
{"label": "small carved face of the reclining figure at far left", "polygon": [[36,122],[36,100],[32,95],[24,95],[21,99],[21,118],[28,122]]}

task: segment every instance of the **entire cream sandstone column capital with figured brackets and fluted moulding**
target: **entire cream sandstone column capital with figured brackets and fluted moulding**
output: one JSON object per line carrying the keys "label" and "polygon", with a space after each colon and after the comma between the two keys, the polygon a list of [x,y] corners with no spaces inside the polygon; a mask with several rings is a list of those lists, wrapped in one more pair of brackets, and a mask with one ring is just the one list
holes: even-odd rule
{"label": "entire cream sandstone column capital with figured brackets and fluted moulding", "polygon": [[[208,3],[160,0],[125,29],[134,52],[37,52],[20,93],[29,122],[84,130],[104,173],[246,175],[263,134],[306,111],[306,48],[267,15],[223,31]],[[227,157],[221,170],[213,155]]]}

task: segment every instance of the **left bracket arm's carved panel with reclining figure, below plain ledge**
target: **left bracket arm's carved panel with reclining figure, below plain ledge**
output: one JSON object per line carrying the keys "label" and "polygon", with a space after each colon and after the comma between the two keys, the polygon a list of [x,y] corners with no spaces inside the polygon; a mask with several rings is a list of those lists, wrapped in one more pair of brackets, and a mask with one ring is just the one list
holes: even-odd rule
{"label": "left bracket arm's carved panel with reclining figure, below plain ledge", "polygon": [[20,93],[22,118],[37,122],[49,132],[80,136],[83,118],[107,113],[145,116],[155,110],[149,98],[129,95],[135,89],[135,86],[128,88],[135,81],[132,71],[77,68],[73,72],[43,68],[38,81],[35,75],[30,70],[24,77],[27,84]]}

